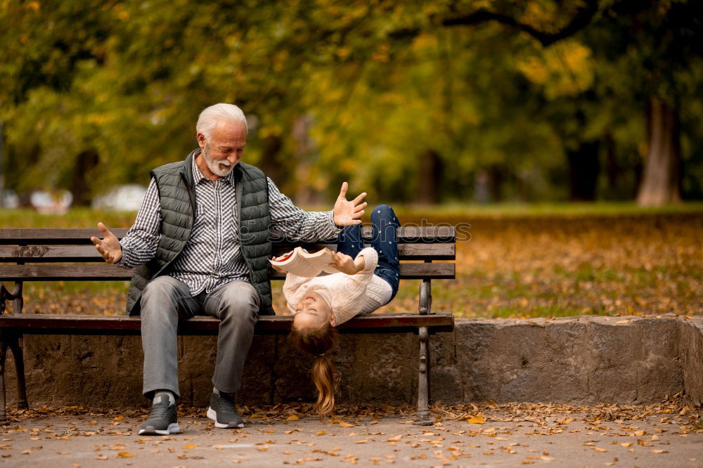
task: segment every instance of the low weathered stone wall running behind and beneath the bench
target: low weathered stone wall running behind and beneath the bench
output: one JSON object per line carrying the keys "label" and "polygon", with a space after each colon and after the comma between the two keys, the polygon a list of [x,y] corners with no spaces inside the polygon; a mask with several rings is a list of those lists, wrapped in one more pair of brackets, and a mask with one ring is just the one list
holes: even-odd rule
{"label": "low weathered stone wall running behind and beneath the bench", "polygon": [[[30,405],[143,405],[140,337],[25,337]],[[214,337],[179,337],[181,397],[207,405]],[[396,405],[417,398],[414,334],[342,335],[331,358],[338,402]],[[685,390],[703,401],[703,317],[456,320],[432,336],[432,400],[655,403]],[[240,403],[311,401],[311,358],[286,337],[255,337]],[[15,377],[8,356],[8,403]]]}

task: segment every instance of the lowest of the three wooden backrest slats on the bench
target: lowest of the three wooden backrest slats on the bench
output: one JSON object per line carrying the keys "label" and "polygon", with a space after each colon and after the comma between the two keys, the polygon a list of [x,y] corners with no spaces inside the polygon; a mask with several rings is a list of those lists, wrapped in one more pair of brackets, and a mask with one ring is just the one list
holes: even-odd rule
{"label": "lowest of the three wooden backrest slats on the bench", "polygon": [[[403,279],[453,279],[455,264],[404,263],[400,266]],[[86,265],[0,265],[0,281],[112,281],[129,280],[131,271],[107,264]],[[282,273],[271,273],[271,279],[283,279]]]}

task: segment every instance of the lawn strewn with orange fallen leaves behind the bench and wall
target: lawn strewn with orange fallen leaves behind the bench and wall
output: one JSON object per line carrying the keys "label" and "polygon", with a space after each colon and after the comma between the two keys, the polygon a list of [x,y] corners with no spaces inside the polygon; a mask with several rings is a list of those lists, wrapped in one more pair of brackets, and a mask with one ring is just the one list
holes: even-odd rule
{"label": "lawn strewn with orange fallen leaves behind the bench and wall", "polygon": [[[471,224],[470,240],[457,243],[456,279],[433,282],[434,311],[488,318],[703,313],[703,204],[423,209],[401,207],[399,217]],[[126,228],[134,214],[0,210],[3,227],[89,228],[98,219]],[[273,283],[274,306],[285,311],[280,285]],[[382,311],[416,311],[419,285],[401,282]],[[122,313],[126,292],[127,282],[27,282],[25,311]]]}

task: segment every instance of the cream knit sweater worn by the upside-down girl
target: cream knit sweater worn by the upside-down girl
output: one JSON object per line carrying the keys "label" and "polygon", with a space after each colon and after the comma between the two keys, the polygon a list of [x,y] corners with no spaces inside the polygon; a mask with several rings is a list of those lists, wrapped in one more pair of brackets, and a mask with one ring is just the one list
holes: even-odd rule
{"label": "cream knit sweater worn by the upside-down girl", "polygon": [[309,291],[320,294],[330,306],[337,325],[360,313],[373,312],[385,306],[393,293],[387,281],[373,274],[378,264],[378,252],[373,247],[366,247],[356,257],[359,256],[363,256],[366,265],[356,275],[333,273],[314,278],[302,278],[291,273],[285,275],[283,295],[290,313],[295,316],[295,307],[307,297]]}

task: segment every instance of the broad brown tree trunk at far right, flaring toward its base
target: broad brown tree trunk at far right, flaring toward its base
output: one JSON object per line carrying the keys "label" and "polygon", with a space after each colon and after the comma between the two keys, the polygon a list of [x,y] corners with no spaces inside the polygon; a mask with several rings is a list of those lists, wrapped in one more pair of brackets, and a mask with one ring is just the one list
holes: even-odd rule
{"label": "broad brown tree trunk at far right, flaring toward its base", "polygon": [[652,207],[681,202],[681,136],[678,111],[657,98],[647,106],[650,149],[637,203]]}

